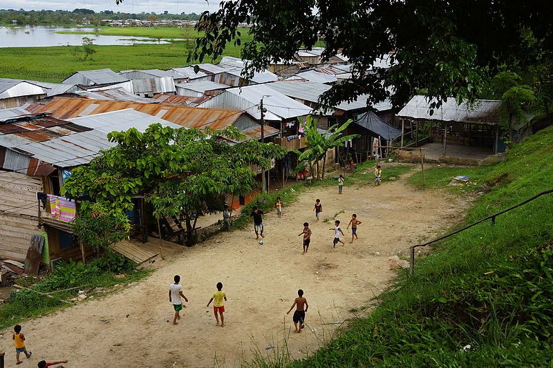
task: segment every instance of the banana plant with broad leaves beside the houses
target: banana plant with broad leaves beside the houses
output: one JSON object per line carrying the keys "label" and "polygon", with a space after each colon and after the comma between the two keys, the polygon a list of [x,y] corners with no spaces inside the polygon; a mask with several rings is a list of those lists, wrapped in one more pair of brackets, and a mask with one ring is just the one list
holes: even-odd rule
{"label": "banana plant with broad leaves beside the houses", "polygon": [[[311,115],[306,117],[306,122],[303,122],[299,119],[299,124],[303,126],[303,131],[306,133],[306,144],[307,148],[305,151],[295,151],[299,156],[298,159],[300,162],[308,162],[311,170],[311,175],[314,173],[314,167],[317,168],[317,179],[319,177],[324,179],[324,167],[326,165],[326,153],[329,149],[332,149],[336,146],[341,146],[344,142],[359,137],[357,134],[352,135],[342,135],[342,132],[348,128],[348,126],[353,122],[352,119],[349,119],[347,122],[338,126],[335,124],[330,126],[327,130],[321,130],[317,128],[317,119],[313,118]],[[323,160],[323,170],[319,168],[319,162]],[[304,164],[299,165],[299,169],[303,168]]]}

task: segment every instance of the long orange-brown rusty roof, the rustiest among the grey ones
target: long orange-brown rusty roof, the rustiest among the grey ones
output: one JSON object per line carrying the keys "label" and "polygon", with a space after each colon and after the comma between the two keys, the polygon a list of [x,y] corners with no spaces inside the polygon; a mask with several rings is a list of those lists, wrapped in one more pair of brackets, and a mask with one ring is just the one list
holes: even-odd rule
{"label": "long orange-brown rusty roof, the rustiest among the grey ones", "polygon": [[189,106],[169,106],[163,104],[138,104],[135,102],[106,101],[100,99],[79,99],[56,97],[48,104],[33,106],[36,112],[51,112],[53,117],[71,119],[72,117],[95,115],[109,111],[132,108],[160,119],[186,126],[201,128],[209,126],[221,129],[236,122],[243,114],[240,110],[223,110],[218,108],[198,108]]}

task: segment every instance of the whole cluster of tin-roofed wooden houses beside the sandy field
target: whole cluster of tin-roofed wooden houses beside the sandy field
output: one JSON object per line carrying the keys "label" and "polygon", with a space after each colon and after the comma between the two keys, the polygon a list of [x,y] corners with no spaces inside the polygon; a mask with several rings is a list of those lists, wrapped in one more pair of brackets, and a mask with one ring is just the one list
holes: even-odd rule
{"label": "whole cluster of tin-roofed wooden houses beside the sandy field", "polygon": [[[133,21],[109,24],[127,26],[129,22]],[[503,149],[500,101],[480,101],[471,109],[449,99],[433,115],[422,96],[413,97],[399,113],[389,99],[371,103],[368,95],[329,106],[321,103],[321,96],[356,72],[355,64],[341,53],[324,61],[322,48],[298,50],[292,59],[274,61],[250,78],[244,74],[247,63],[223,57],[218,65],[169,70],[80,70],[58,84],[0,79],[0,187],[6,193],[0,202],[0,259],[23,261],[36,233],[47,240],[44,264],[86,259],[88,251],[71,235],[67,219],[56,217],[53,209],[62,203],[70,209],[73,206],[78,215],[78,204],[60,197],[64,178],[113,146],[106,139],[113,130],[144,131],[153,123],[214,130],[233,126],[243,133],[243,139],[263,139],[287,150],[267,173],[269,189],[298,179],[294,168],[299,163],[297,151],[306,149],[301,122],[307,115],[318,119],[321,131],[352,119],[344,133],[359,135],[326,153],[327,168],[344,166],[352,159],[357,163],[375,158],[374,149],[379,146],[438,144],[444,148],[443,156],[454,146],[482,148],[487,155]],[[391,58],[383,55],[362,72],[391,67]],[[423,131],[428,136],[422,137]],[[261,171],[252,170],[262,182]],[[235,208],[247,204],[259,190],[234,202],[227,198],[227,204]],[[138,209],[144,199],[136,200]],[[153,233],[144,211],[139,212],[129,218],[146,242]],[[162,221],[167,229],[178,226],[171,219]]]}

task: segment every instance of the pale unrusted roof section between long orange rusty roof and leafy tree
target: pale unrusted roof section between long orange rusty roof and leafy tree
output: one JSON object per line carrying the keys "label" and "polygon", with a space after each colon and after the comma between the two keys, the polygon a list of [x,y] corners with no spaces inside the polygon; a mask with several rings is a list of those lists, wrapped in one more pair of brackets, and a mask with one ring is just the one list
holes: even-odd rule
{"label": "pale unrusted roof section between long orange rusty roof and leafy tree", "polygon": [[168,122],[160,117],[140,113],[132,108],[111,111],[109,113],[75,117],[73,119],[68,119],[68,121],[79,124],[80,126],[86,126],[87,128],[93,128],[104,134],[113,131],[126,131],[130,128],[136,128],[143,133],[151,124],[156,123],[160,123],[164,126],[171,126],[171,128],[181,127],[178,124]]}

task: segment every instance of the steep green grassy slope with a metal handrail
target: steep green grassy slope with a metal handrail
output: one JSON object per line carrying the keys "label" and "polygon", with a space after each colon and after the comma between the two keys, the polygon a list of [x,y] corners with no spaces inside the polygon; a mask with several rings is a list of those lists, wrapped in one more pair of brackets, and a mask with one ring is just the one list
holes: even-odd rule
{"label": "steep green grassy slope with a metal handrail", "polygon": [[[426,174],[411,184],[476,195],[466,218],[474,222],[553,188],[553,127],[500,164]],[[471,184],[448,186],[455,175]],[[371,316],[291,366],[552,367],[552,242],[553,195],[453,236],[417,259],[412,278],[400,275]]]}

